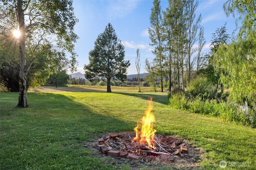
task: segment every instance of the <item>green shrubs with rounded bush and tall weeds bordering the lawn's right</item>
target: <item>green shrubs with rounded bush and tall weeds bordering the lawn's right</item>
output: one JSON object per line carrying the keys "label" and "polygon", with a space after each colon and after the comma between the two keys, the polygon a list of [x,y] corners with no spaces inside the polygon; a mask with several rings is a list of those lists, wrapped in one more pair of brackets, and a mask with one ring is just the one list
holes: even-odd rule
{"label": "green shrubs with rounded bush and tall weeds bordering the lawn's right", "polygon": [[169,105],[172,108],[199,113],[244,126],[256,127],[256,106],[237,104],[229,100],[229,92],[212,89],[206,78],[193,79],[186,91],[174,88],[169,93]]}

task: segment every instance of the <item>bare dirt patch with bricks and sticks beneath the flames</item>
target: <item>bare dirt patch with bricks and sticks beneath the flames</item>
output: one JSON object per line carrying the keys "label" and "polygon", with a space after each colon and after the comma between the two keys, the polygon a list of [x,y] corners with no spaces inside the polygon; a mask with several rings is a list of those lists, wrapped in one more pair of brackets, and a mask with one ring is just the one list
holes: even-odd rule
{"label": "bare dirt patch with bricks and sticks beneath the flames", "polygon": [[130,169],[194,169],[200,168],[202,152],[176,136],[156,136],[156,148],[132,142],[134,134],[106,134],[84,143],[92,157],[116,166],[128,164]]}

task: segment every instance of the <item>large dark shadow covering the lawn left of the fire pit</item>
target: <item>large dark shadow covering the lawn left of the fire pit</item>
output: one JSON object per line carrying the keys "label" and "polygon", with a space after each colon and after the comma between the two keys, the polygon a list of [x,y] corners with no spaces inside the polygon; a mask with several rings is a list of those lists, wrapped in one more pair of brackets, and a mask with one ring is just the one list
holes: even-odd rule
{"label": "large dark shadow covering the lawn left of the fire pit", "polygon": [[[8,93],[12,98],[17,94]],[[10,113],[1,115],[2,169],[26,169],[30,166],[36,169],[50,166],[56,169],[94,169],[93,165],[88,166],[92,151],[82,144],[97,141],[106,133],[132,130],[136,124],[123,121],[105,110],[104,113],[93,110],[90,105],[78,103],[62,94],[28,93],[28,105],[23,109],[1,105],[1,111],[4,109]],[[100,159],[96,162],[105,164]]]}

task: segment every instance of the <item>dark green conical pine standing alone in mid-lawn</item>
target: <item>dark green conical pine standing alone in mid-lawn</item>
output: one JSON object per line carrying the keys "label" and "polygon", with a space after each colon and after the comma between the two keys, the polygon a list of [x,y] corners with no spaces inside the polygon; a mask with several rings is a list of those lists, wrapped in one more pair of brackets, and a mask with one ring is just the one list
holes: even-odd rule
{"label": "dark green conical pine standing alone in mid-lawn", "polygon": [[90,63],[84,65],[86,78],[90,81],[107,79],[107,92],[111,93],[111,80],[126,80],[126,70],[130,66],[130,61],[125,61],[124,55],[124,45],[109,23],[94,42],[94,49],[89,52]]}

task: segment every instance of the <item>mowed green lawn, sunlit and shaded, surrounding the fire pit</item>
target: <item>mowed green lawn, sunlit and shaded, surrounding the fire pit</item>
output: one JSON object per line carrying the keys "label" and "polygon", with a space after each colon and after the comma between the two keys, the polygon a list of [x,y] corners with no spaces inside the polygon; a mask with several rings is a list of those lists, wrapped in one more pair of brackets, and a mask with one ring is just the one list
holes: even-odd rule
{"label": "mowed green lawn, sunlit and shaded, surrounding the fire pit", "polygon": [[[256,169],[256,129],[171,109],[167,95],[94,89],[28,93],[29,107],[19,109],[18,93],[0,93],[0,169],[131,169],[132,161],[94,157],[86,144],[106,133],[132,132],[148,96],[157,134],[179,136],[201,148],[201,169],[220,169],[222,160],[229,169]],[[148,169],[143,163],[137,168]]]}

